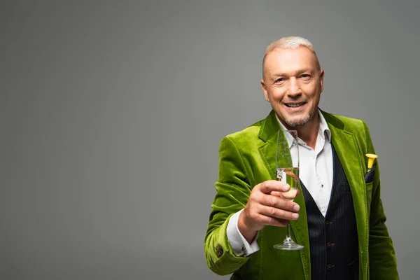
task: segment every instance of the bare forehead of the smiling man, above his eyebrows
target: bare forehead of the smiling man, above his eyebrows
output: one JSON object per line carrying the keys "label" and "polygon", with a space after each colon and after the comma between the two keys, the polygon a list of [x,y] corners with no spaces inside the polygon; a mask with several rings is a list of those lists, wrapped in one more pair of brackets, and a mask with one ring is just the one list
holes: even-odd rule
{"label": "bare forehead of the smiling man, above his eyebrows", "polygon": [[306,47],[279,48],[265,57],[264,71],[267,74],[293,73],[302,69],[316,71],[316,55]]}

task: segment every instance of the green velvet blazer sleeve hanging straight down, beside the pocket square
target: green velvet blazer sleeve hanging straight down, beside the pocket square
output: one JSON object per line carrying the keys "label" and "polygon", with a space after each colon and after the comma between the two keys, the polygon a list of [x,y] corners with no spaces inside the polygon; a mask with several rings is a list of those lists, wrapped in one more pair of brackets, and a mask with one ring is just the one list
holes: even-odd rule
{"label": "green velvet blazer sleeve hanging straight down, beside the pocket square", "polygon": [[[367,143],[367,153],[374,153],[372,139],[369,129],[365,126],[365,137]],[[381,200],[381,182],[379,179],[379,165],[374,171],[372,183],[372,195],[370,198],[370,218],[369,218],[369,270],[370,279],[400,279],[398,276],[397,260],[393,242],[386,228],[386,216]],[[368,183],[370,184],[370,183]],[[367,185],[368,186],[368,185]],[[369,205],[369,202],[368,202]]]}

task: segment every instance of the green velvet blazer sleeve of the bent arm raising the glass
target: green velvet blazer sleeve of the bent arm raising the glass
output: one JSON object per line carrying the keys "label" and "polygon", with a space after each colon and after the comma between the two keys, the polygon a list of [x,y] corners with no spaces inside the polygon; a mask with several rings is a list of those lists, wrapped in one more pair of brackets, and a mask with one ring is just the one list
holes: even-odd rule
{"label": "green velvet blazer sleeve of the bent arm raising the glass", "polygon": [[209,268],[219,275],[235,272],[249,259],[232,252],[226,235],[232,214],[245,207],[251,193],[246,166],[235,143],[229,137],[219,146],[219,172],[216,196],[204,239],[204,255]]}

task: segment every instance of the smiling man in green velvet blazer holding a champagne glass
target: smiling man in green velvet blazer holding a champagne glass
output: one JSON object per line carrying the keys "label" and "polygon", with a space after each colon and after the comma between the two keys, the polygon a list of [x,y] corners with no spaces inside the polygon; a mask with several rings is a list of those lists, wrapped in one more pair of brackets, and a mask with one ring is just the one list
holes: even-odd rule
{"label": "smiling man in green velvet blazer holding a champagne glass", "polygon": [[[223,138],[216,197],[204,251],[207,264],[231,279],[398,279],[385,225],[379,167],[363,120],[318,109],[324,71],[311,43],[285,37],[263,60],[265,120]],[[300,195],[275,181],[276,135],[297,130]],[[300,251],[273,248],[290,223]]]}

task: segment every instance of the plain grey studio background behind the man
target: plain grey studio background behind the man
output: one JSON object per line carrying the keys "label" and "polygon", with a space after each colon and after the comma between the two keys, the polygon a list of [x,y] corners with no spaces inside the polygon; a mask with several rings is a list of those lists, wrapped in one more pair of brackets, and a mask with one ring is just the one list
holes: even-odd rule
{"label": "plain grey studio background behind the man", "polygon": [[[397,3],[398,2],[398,3]],[[419,3],[1,1],[0,279],[220,279],[204,235],[261,61],[304,36],[321,108],[362,118],[401,279],[417,279]]]}

